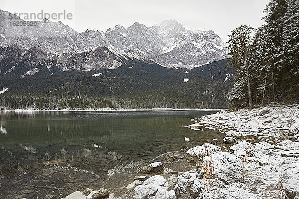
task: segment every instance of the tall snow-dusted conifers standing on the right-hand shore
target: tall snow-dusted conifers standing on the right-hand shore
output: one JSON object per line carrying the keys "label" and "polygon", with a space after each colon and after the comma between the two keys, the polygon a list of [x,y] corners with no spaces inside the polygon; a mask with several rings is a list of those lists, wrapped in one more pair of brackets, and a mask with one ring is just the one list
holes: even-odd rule
{"label": "tall snow-dusted conifers standing on the right-hand shore", "polygon": [[258,29],[242,25],[229,35],[235,107],[299,102],[299,0],[270,0],[265,13]]}

